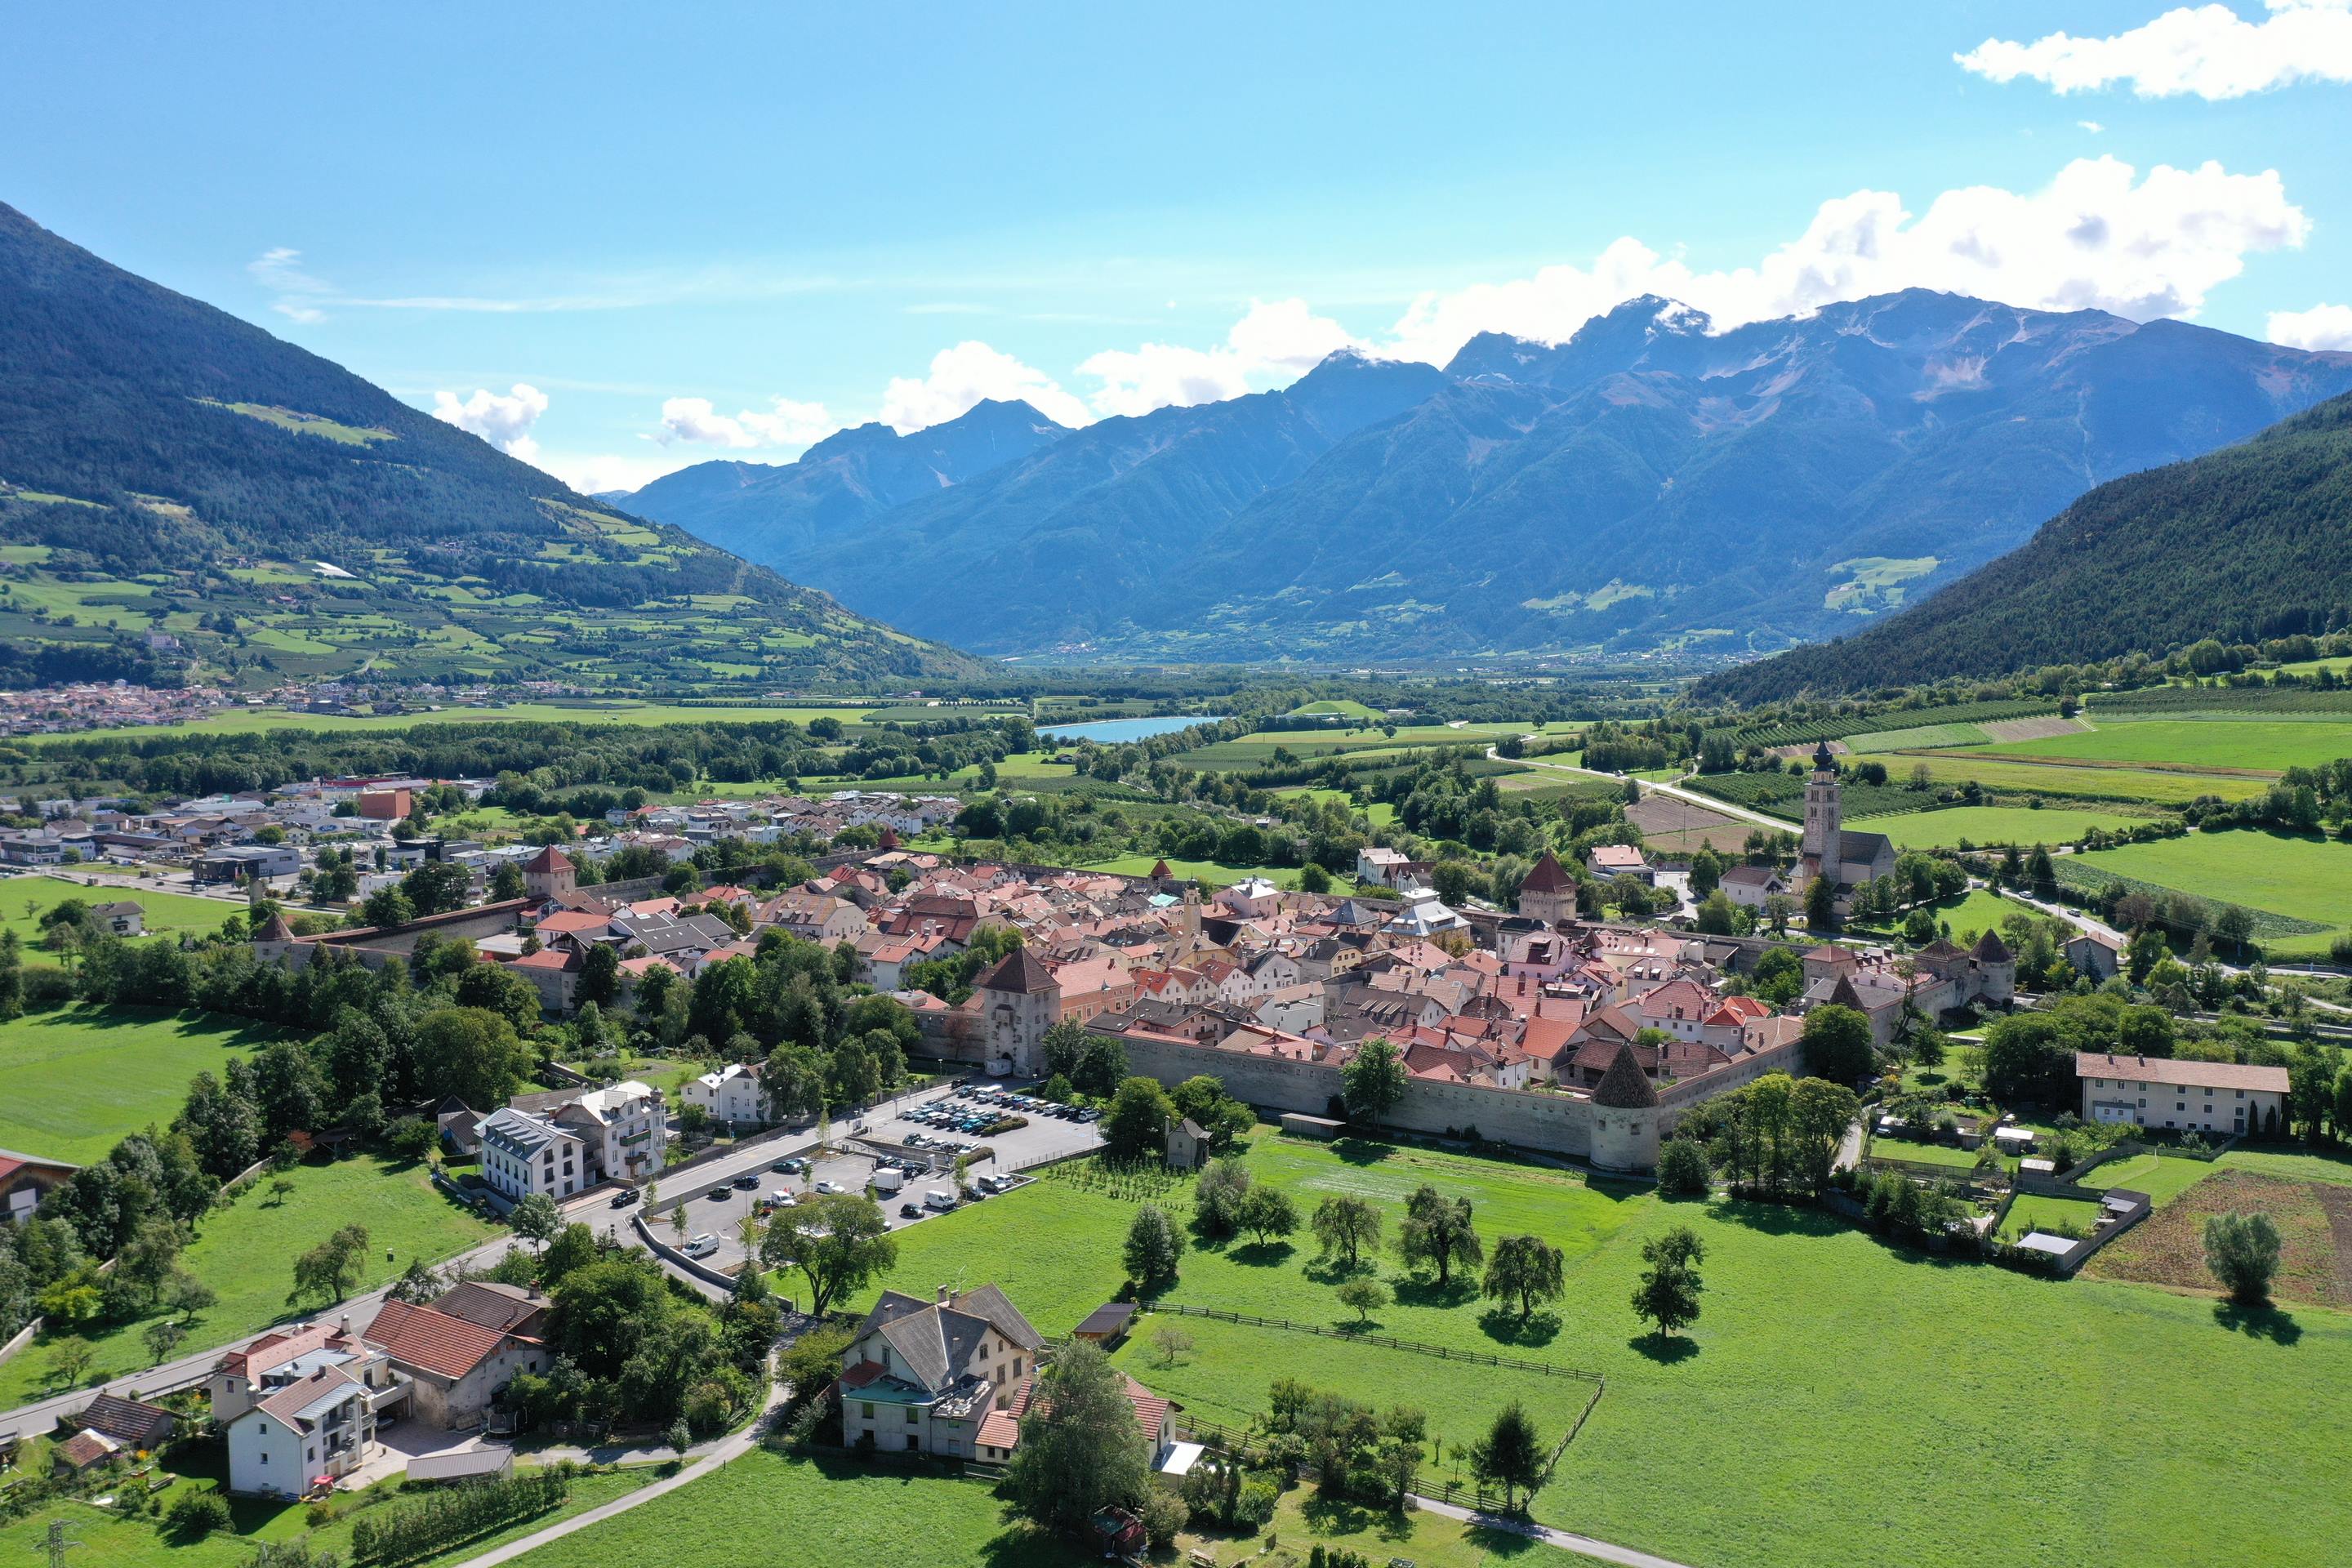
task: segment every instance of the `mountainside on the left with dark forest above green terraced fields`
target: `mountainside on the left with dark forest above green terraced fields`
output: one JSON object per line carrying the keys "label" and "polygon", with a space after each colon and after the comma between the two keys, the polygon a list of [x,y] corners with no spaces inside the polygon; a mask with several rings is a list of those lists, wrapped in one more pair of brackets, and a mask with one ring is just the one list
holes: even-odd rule
{"label": "mountainside on the left with dark forest above green terraced fields", "polygon": [[976,675],[0,205],[0,682]]}

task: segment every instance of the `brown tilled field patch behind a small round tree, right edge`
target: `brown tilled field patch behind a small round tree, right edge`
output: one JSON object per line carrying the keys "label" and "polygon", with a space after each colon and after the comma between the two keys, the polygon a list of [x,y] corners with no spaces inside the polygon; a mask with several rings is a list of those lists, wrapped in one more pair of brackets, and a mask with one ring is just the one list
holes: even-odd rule
{"label": "brown tilled field patch behind a small round tree, right edge", "polygon": [[2279,1274],[2270,1288],[2274,1300],[2352,1307],[2352,1246],[2338,1241],[2352,1237],[2352,1187],[2256,1171],[2216,1171],[2171,1204],[2159,1204],[2100,1248],[2084,1274],[2213,1291],[2213,1274],[2204,1265],[2204,1222],[2216,1213],[2265,1213],[2279,1227]]}

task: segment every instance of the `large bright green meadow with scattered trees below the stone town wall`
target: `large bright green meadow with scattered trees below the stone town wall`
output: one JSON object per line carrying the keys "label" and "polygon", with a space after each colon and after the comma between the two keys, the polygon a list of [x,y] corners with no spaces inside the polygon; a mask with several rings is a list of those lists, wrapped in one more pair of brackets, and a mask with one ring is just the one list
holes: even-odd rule
{"label": "large bright green meadow with scattered trees below the stone town wall", "polygon": [[[2338,1462],[2352,1403],[2310,1399],[2352,1380],[2352,1316],[2338,1312],[2227,1314],[2145,1286],[1900,1253],[1806,1211],[1661,1204],[1409,1150],[1261,1138],[1251,1161],[1298,1197],[1364,1190],[1390,1225],[1395,1197],[1428,1175],[1477,1199],[1489,1241],[1524,1227],[1564,1246],[1557,1324],[1510,1352],[1602,1371],[1609,1392],[1562,1462],[1573,1483],[1536,1500],[1545,1523],[1710,1568],[1957,1568],[1980,1561],[1983,1542],[1952,1521],[2020,1505],[2034,1528],[2004,1537],[2002,1559],[2025,1568],[2201,1568],[2216,1540],[2239,1561],[2317,1566],[2338,1561],[2352,1523]],[[1131,1215],[1134,1204],[1037,1182],[910,1229],[891,1284],[997,1279],[1044,1333],[1063,1333],[1117,1288]],[[1642,1241],[1668,1225],[1691,1225],[1705,1244],[1708,1293],[1698,1326],[1661,1349],[1625,1298]],[[1303,1316],[1284,1305],[1329,1302],[1303,1265],[1303,1251],[1192,1251],[1169,1295]],[[1392,1265],[1383,1274],[1397,1276]],[[1322,1312],[1343,1316],[1336,1302]],[[1496,1345],[1482,1314],[1477,1300],[1423,1298],[1381,1316],[1399,1338]],[[1235,1352],[1251,1361],[1232,1387],[1284,1371],[1291,1340]],[[1397,1352],[1385,1378],[1350,1392],[1437,1403],[1446,1366]],[[2197,1422],[2079,1418],[2164,1408],[2180,1366],[2230,1399],[2201,1406]],[[1148,1382],[1150,1368],[1138,1375]],[[2126,1465],[2147,1483],[2119,1495],[2112,1474]],[[2227,1474],[2260,1474],[2263,1486],[2211,1486]]]}

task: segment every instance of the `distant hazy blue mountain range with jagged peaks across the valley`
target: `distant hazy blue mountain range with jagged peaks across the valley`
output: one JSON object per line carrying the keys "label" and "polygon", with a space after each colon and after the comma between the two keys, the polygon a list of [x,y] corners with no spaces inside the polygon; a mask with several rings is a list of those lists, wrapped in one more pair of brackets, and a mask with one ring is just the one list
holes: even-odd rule
{"label": "distant hazy blue mountain range with jagged peaks across the valley", "polygon": [[1082,430],[983,404],[628,503],[988,654],[1738,656],[1851,632],[2105,480],[2343,390],[2352,355],[2187,322],[1910,289],[1715,331],[1649,296],[1444,369],[1341,353]]}

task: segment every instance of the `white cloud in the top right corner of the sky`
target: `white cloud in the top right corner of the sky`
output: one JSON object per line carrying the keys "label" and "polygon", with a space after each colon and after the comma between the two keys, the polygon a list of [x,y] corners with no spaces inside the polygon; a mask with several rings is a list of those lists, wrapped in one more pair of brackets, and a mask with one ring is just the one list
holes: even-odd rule
{"label": "white cloud in the top right corner of the sky", "polygon": [[2056,92],[2129,82],[2143,99],[2241,99],[2305,80],[2352,82],[2352,0],[2265,2],[2263,21],[2225,5],[2178,7],[2112,38],[1987,38],[1952,59],[1994,82],[2030,78]]}

